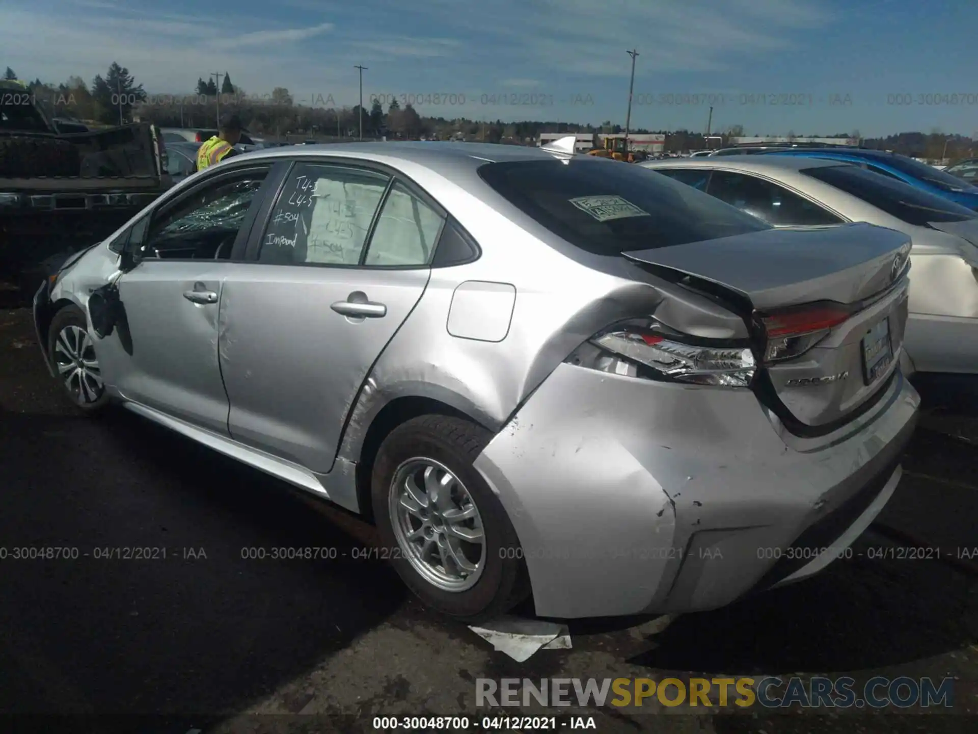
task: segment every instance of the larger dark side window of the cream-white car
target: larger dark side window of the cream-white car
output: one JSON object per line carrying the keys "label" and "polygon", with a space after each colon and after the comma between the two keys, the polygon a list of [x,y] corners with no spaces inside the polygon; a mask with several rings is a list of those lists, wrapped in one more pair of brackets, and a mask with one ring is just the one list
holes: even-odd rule
{"label": "larger dark side window of the cream-white car", "polygon": [[714,171],[709,193],[721,201],[782,227],[840,224],[834,214],[771,181],[744,173]]}

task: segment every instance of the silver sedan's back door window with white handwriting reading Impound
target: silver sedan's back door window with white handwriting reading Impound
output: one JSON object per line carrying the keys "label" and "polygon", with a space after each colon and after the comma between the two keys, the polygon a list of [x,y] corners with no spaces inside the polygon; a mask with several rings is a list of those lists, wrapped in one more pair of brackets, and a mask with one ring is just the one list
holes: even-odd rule
{"label": "silver sedan's back door window with white handwriting reading Impound", "polygon": [[390,178],[329,163],[297,163],[272,207],[259,262],[357,265]]}

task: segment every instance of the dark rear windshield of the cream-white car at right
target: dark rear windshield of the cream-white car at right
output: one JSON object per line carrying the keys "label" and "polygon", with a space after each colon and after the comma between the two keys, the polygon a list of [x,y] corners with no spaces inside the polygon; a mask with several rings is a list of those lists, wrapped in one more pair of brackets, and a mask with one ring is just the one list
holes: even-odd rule
{"label": "dark rear windshield of the cream-white car at right", "polygon": [[927,222],[960,222],[976,218],[975,213],[965,206],[857,165],[804,168],[802,173],[852,194],[908,224],[922,226]]}

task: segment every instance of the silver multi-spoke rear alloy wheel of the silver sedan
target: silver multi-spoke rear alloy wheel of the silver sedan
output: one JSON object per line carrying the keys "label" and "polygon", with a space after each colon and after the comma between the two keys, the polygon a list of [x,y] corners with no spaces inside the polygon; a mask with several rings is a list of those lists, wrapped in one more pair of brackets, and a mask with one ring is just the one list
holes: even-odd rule
{"label": "silver multi-spoke rear alloy wheel of the silver sedan", "polygon": [[390,483],[388,512],[401,553],[433,586],[465,591],[485,568],[485,530],[465,484],[443,464],[414,458]]}

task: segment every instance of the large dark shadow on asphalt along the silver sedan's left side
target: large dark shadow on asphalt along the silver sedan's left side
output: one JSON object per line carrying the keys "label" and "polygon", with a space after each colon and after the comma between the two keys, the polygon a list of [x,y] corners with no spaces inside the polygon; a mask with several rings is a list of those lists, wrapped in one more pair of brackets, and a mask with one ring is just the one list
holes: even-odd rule
{"label": "large dark shadow on asphalt along the silver sedan's left side", "polygon": [[[0,445],[0,711],[239,711],[404,600],[282,484],[121,411],[6,412]],[[283,547],[320,557],[243,558]]]}

